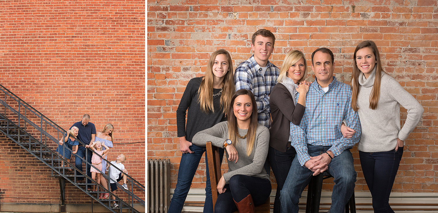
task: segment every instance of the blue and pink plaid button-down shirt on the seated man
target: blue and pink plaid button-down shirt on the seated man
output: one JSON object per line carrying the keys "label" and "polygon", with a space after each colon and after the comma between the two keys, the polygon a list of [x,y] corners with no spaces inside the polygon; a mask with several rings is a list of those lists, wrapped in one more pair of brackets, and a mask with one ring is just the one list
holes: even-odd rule
{"label": "blue and pink plaid button-down shirt on the seated man", "polygon": [[[352,138],[344,138],[341,133],[343,120],[355,129]],[[335,156],[352,147],[360,139],[359,114],[351,108],[350,86],[333,77],[329,91],[322,91],[315,81],[306,95],[306,110],[300,126],[290,124],[292,146],[297,150],[298,161],[303,166],[310,160],[307,143],[314,146],[331,146]]]}

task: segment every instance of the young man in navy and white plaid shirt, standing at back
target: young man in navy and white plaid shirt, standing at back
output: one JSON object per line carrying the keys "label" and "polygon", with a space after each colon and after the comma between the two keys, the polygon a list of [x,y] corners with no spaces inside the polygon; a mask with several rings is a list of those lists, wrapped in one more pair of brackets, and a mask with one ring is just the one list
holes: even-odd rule
{"label": "young man in navy and white plaid shirt, standing at back", "polygon": [[254,55],[236,68],[236,91],[246,89],[252,91],[257,103],[258,122],[266,127],[271,126],[271,110],[269,95],[277,84],[279,68],[269,62],[274,50],[275,36],[271,31],[261,29],[252,35],[251,50]]}

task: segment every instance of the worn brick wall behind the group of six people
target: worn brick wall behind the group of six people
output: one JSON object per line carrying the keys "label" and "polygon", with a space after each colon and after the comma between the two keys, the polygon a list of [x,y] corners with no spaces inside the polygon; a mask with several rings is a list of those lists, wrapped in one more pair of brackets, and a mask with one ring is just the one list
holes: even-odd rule
{"label": "worn brick wall behind the group of six people", "polygon": [[[436,0],[213,0],[148,1],[148,158],[170,158],[175,187],[181,152],[176,109],[185,85],[202,76],[211,52],[224,48],[233,64],[251,56],[251,35],[276,35],[270,60],[281,66],[287,52],[306,54],[325,46],[335,54],[338,80],[350,82],[356,45],[374,40],[384,70],[409,91],[424,115],[405,141],[394,192],[438,192],[438,7]],[[310,69],[310,67],[309,67]],[[313,78],[313,73],[308,79]],[[401,112],[402,122],[406,110]],[[358,171],[357,191],[367,190]],[[204,159],[192,188],[205,185]],[[273,188],[276,187],[272,178]],[[326,184],[325,189],[330,185]]]}

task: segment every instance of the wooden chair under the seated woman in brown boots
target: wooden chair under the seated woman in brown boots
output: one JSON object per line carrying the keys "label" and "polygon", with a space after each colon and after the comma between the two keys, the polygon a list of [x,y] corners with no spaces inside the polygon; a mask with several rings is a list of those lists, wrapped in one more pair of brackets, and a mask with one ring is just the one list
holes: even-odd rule
{"label": "wooden chair under the seated woman in brown boots", "polygon": [[[215,209],[216,200],[218,198],[217,184],[222,177],[220,160],[219,160],[219,148],[212,146],[212,142],[208,141],[206,157],[208,161],[208,172],[210,173],[210,184],[212,186],[212,198],[213,198],[213,211]],[[269,213],[271,210],[270,199],[267,199],[265,203],[255,206],[255,212],[257,213]]]}

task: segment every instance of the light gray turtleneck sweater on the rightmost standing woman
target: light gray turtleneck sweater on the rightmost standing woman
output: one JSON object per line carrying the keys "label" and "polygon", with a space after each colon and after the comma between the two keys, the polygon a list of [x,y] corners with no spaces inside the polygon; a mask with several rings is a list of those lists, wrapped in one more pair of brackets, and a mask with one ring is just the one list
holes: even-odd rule
{"label": "light gray turtleneck sweater on the rightmost standing woman", "polygon": [[[363,73],[359,75],[359,106],[360,136],[358,150],[363,152],[385,152],[393,150],[397,138],[406,140],[409,133],[417,126],[424,109],[409,92],[391,76],[382,72],[380,97],[376,109],[370,109],[370,94],[373,89],[376,69],[366,79]],[[400,105],[407,109],[408,115],[403,128],[400,129]]]}

